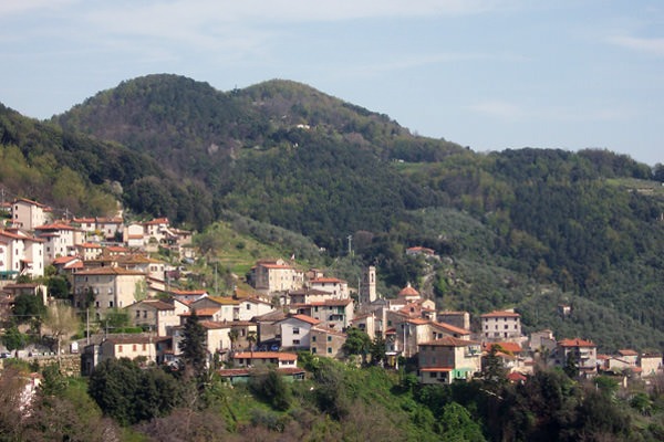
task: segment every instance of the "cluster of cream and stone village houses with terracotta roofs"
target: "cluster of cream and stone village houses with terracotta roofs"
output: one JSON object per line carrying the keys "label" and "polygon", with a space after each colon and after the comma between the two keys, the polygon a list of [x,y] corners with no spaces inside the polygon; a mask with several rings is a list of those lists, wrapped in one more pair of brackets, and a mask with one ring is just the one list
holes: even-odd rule
{"label": "cluster of cream and stone village houses with terracotta roofs", "polygon": [[[409,284],[386,298],[377,292],[373,266],[363,270],[353,287],[320,270],[266,256],[251,267],[251,290],[236,288],[226,296],[209,287],[183,290],[172,275],[186,274],[186,265],[155,256],[166,250],[179,263],[194,262],[193,233],[170,227],[166,218],[54,220],[52,210],[27,199],[2,210],[10,217],[0,230],[2,320],[11,322],[20,296],[39,298],[46,307],[71,305],[85,316],[89,329],[92,323],[100,330],[71,341],[65,337],[70,345],[61,352],[80,355],[83,375],[110,358],[177,367],[193,317],[205,329],[207,362],[218,364],[230,383],[246,381],[264,366],[303,378],[300,351],[356,364],[374,358],[385,368],[408,365],[424,385],[469,380],[485,370],[487,357],[498,360],[513,382],[532,375],[536,366],[572,369],[580,378],[610,373],[622,383],[663,370],[661,354],[621,349],[601,355],[592,337],[557,337],[550,329],[526,336],[513,309],[486,312],[471,322],[467,312],[437,311],[434,301]],[[417,245],[406,253],[439,259]],[[39,282],[48,272],[68,278],[69,299],[56,299]],[[568,305],[558,308],[562,316],[570,314]],[[107,322],[104,327],[108,314],[117,312],[136,333],[114,333]],[[49,352],[12,350],[4,349],[3,356]]]}

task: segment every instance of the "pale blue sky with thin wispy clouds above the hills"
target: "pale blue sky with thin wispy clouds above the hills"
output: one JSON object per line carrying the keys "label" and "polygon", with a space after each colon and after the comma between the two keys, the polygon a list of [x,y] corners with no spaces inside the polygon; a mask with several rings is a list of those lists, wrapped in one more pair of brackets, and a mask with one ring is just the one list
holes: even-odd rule
{"label": "pale blue sky with thin wispy clouds above the hills", "polygon": [[664,164],[661,0],[0,1],[0,103],[25,116],[156,73],[292,80],[478,152]]}

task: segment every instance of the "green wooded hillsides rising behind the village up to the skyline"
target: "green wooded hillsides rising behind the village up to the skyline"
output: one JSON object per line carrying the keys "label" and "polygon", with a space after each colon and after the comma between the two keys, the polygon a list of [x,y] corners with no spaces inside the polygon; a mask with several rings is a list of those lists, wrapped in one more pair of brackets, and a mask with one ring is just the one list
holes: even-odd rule
{"label": "green wooded hillsides rising behind the village up to the skyline", "polygon": [[[2,186],[70,213],[117,200],[200,232],[245,217],[307,236],[311,262],[349,281],[375,264],[387,296],[411,282],[440,308],[516,307],[527,330],[606,351],[664,346],[661,165],[476,154],[303,84],[220,92],[176,75],[123,82],[50,122],[1,107],[0,140]],[[413,245],[442,259],[406,256]]]}

